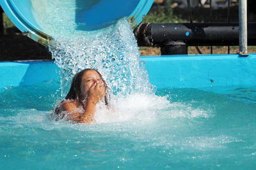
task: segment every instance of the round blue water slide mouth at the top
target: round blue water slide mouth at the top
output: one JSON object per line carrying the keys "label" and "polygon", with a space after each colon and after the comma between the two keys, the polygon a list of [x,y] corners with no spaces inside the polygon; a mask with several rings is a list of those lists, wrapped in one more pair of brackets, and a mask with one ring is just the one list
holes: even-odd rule
{"label": "round blue water slide mouth at the top", "polygon": [[[52,1],[52,3],[51,3]],[[51,8],[63,8],[65,5],[58,5],[54,0],[47,0],[51,4]],[[108,27],[122,17],[127,17],[131,21],[131,26],[140,24],[143,15],[146,15],[154,0],[63,0],[67,4],[74,4],[74,6],[65,6],[65,10],[74,10],[78,30],[93,31],[95,29],[102,29]],[[10,18],[13,24],[22,32],[27,32],[29,38],[35,41],[47,44],[47,40],[52,38],[44,27],[42,22],[35,18],[39,12],[35,8],[40,8],[45,3],[44,0],[1,0],[0,5],[4,13]],[[36,4],[36,5],[35,5]],[[63,10],[63,15],[67,15]],[[52,17],[53,13],[49,13]],[[68,22],[65,24],[69,24]],[[81,27],[81,25],[83,27]]]}

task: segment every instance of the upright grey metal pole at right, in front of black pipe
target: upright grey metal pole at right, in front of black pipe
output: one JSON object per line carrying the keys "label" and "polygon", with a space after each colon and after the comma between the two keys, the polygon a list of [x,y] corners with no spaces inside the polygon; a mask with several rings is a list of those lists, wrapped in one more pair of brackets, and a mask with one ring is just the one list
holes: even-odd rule
{"label": "upright grey metal pole at right, in front of black pipe", "polygon": [[247,0],[239,0],[239,54],[247,55]]}

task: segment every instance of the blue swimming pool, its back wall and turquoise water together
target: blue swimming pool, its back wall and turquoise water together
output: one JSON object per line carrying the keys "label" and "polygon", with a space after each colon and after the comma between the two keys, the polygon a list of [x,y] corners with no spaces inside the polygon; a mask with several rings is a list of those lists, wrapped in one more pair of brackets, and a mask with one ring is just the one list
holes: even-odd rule
{"label": "blue swimming pool, its back wall and turquoise water together", "polygon": [[93,125],[52,120],[53,62],[2,62],[1,169],[254,169],[254,54],[141,59],[156,96],[120,99]]}

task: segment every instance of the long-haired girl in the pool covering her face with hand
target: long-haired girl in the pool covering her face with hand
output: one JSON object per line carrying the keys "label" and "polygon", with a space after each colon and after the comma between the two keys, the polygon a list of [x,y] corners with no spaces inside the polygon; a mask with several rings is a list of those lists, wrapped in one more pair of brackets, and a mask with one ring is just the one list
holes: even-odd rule
{"label": "long-haired girl in the pool covering her face with hand", "polygon": [[101,74],[95,69],[84,69],[72,79],[70,90],[55,109],[56,119],[67,117],[67,120],[77,123],[91,124],[95,122],[95,107],[103,99],[108,106],[106,98],[107,85]]}

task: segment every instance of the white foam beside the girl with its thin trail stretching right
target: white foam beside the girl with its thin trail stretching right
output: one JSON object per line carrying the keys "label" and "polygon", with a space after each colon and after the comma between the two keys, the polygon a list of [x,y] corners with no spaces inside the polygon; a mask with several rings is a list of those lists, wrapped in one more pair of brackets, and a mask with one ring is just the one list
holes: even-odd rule
{"label": "white foam beside the girl with its thin trail stretching right", "polygon": [[212,110],[193,108],[191,104],[170,103],[166,96],[159,97],[154,94],[131,94],[118,97],[108,110],[104,104],[100,104],[95,113],[98,124],[108,122],[125,121],[158,121],[160,119],[174,118],[210,118]]}

